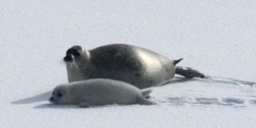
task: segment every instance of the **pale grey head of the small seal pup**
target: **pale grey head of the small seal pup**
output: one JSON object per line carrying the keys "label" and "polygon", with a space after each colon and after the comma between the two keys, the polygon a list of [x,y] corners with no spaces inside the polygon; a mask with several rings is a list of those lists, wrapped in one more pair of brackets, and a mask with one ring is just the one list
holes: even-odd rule
{"label": "pale grey head of the small seal pup", "polygon": [[56,86],[52,91],[52,96],[49,99],[53,104],[70,104],[72,97],[70,97],[68,92],[68,86],[60,85]]}

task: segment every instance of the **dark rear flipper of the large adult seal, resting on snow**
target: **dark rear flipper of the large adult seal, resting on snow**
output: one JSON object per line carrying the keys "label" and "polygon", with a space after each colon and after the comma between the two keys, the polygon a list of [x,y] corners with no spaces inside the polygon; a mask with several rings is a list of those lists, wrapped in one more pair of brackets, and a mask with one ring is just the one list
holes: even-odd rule
{"label": "dark rear flipper of the large adult seal, resting on snow", "polygon": [[177,66],[175,68],[175,74],[179,74],[179,75],[184,76],[188,79],[191,79],[193,77],[200,77],[200,78],[205,77],[205,75],[202,74],[201,72],[199,72],[198,70],[195,70],[195,69],[189,68],[189,67],[179,67],[179,66]]}

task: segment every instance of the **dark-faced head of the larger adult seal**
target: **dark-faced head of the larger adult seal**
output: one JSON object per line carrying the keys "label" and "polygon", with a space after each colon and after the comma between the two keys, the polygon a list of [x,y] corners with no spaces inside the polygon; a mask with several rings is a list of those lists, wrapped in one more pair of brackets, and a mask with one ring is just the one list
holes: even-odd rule
{"label": "dark-faced head of the larger adult seal", "polygon": [[90,53],[83,47],[74,45],[67,50],[66,56],[63,58],[63,60],[68,67],[81,71],[81,68],[83,68],[82,66],[86,65],[88,60],[90,60]]}

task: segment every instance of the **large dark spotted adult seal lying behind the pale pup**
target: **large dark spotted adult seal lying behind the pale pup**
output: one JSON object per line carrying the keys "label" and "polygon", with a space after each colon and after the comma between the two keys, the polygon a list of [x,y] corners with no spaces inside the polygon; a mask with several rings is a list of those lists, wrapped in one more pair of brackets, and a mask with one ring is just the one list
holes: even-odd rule
{"label": "large dark spotted adult seal lying behind the pale pup", "polygon": [[160,86],[174,74],[186,78],[204,77],[192,68],[175,67],[180,60],[170,60],[154,51],[127,44],[111,44],[86,51],[75,45],[67,50],[68,82],[93,78],[115,79],[138,88]]}

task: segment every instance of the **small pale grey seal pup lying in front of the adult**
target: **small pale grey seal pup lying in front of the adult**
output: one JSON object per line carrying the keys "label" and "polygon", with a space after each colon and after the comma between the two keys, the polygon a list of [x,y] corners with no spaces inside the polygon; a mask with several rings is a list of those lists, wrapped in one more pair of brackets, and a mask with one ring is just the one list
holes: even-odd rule
{"label": "small pale grey seal pup lying in front of the adult", "polygon": [[49,100],[54,104],[78,104],[83,108],[105,104],[156,104],[145,98],[150,92],[150,89],[141,91],[122,81],[89,79],[57,86]]}

